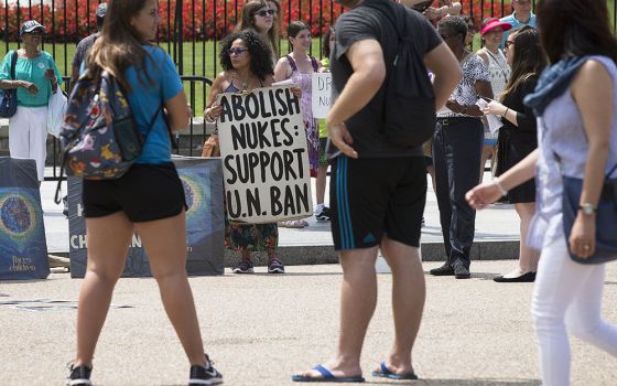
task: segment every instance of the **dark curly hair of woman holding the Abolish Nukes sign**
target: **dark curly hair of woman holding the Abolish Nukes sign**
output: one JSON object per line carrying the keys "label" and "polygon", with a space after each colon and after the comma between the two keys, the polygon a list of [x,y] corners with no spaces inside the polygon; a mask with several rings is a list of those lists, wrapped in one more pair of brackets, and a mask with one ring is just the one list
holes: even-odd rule
{"label": "dark curly hair of woman holding the Abolish Nukes sign", "polygon": [[229,49],[235,40],[240,39],[247,45],[250,55],[250,69],[255,76],[261,81],[266,81],[268,75],[274,74],[272,65],[272,50],[270,45],[253,30],[243,30],[234,32],[220,43],[220,65],[223,69],[234,69],[231,58],[229,57]]}

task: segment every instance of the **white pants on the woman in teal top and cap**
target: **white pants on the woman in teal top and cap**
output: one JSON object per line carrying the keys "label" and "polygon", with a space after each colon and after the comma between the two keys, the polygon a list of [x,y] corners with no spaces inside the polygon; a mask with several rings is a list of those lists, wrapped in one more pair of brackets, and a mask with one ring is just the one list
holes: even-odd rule
{"label": "white pants on the woman in teal top and cap", "polygon": [[47,156],[47,106],[18,106],[9,119],[9,151],[12,158],[36,161],[39,181],[43,181]]}

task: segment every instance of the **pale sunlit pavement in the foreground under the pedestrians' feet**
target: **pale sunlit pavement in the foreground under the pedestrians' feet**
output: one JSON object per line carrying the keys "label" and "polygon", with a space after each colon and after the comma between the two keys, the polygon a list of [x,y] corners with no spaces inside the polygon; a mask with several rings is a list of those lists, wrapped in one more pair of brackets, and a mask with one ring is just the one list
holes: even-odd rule
{"label": "pale sunlit pavement in the foreground under the pedestrians' feet", "polygon": [[[390,275],[380,296],[361,360],[369,385],[539,386],[529,303],[532,285],[490,278],[513,261],[476,261],[474,278],[426,276],[427,302],[413,351],[421,382],[387,382],[370,371],[390,349]],[[439,262],[424,262],[424,269]],[[604,315],[617,322],[617,264],[607,266]],[[290,375],[325,361],[338,331],[340,268],[288,267],[284,276],[194,277],[206,351],[226,385],[292,385]],[[82,280],[0,282],[0,385],[59,385],[75,347]],[[32,302],[40,299],[68,303]],[[152,279],[121,279],[95,355],[95,385],[186,385],[187,362],[165,318]],[[43,308],[45,311],[41,310]],[[573,386],[615,386],[617,360],[572,339]]]}

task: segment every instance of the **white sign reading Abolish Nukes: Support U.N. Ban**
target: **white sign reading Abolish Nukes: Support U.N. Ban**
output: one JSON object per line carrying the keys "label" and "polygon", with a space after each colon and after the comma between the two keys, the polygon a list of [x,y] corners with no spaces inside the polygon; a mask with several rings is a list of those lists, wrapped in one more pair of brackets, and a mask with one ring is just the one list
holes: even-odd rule
{"label": "white sign reading Abolish Nukes: Support U.N. Ban", "polygon": [[313,214],[306,131],[290,86],[218,96],[227,216],[251,224]]}

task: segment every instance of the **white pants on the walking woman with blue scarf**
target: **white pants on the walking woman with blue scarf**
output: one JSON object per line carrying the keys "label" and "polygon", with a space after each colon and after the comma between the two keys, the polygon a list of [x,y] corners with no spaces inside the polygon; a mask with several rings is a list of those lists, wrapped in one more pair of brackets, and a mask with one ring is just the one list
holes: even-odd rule
{"label": "white pants on the walking woman with blue scarf", "polygon": [[617,325],[600,318],[604,265],[570,259],[565,237],[542,250],[531,312],[542,385],[570,385],[567,332],[617,356]]}

